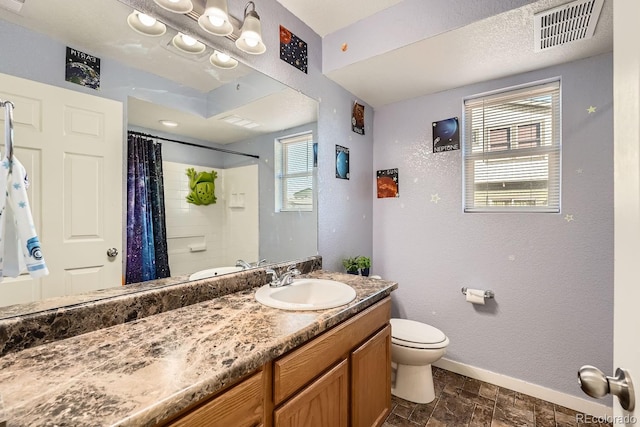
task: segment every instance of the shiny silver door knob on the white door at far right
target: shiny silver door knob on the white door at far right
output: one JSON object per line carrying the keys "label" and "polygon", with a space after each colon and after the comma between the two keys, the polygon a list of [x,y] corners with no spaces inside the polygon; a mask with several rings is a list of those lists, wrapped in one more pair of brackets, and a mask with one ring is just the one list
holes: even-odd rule
{"label": "shiny silver door knob on the white door at far right", "polygon": [[578,384],[586,394],[600,399],[607,394],[618,397],[620,406],[627,411],[635,408],[635,394],[629,373],[621,368],[616,369],[615,377],[607,377],[594,366],[585,365],[578,371]]}

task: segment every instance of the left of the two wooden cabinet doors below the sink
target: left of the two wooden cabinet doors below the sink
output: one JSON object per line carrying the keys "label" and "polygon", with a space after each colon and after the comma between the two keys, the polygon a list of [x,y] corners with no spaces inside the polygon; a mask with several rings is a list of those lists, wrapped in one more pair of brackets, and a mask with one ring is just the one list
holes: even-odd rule
{"label": "left of the two wooden cabinet doors below the sink", "polygon": [[345,359],[274,413],[275,427],[347,427],[349,369]]}

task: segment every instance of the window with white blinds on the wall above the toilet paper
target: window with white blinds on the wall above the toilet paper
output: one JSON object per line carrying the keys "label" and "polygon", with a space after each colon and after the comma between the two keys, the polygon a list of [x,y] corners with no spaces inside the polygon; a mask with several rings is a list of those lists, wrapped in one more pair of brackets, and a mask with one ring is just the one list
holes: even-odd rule
{"label": "window with white blinds on the wall above the toilet paper", "polygon": [[[530,114],[530,116],[527,116],[527,110],[533,109],[535,106],[532,101],[540,96],[551,97],[549,103],[550,112],[546,114],[547,117],[542,118],[542,114]],[[509,108],[514,108],[509,103],[517,104],[518,102],[521,105],[509,112]],[[531,103],[531,108],[527,103]],[[562,84],[560,78],[533,82],[463,99],[462,175],[463,211],[465,213],[560,213],[562,184],[561,105]],[[485,123],[485,113],[492,109],[504,109],[507,111],[507,113],[500,112],[495,116],[500,120],[496,119],[499,123],[494,127],[487,126]],[[478,115],[478,113],[480,114]],[[469,117],[474,114],[480,117],[481,125],[474,124],[474,117]],[[494,116],[489,114],[489,118],[492,117]],[[535,138],[531,138],[530,131],[527,131],[526,139],[520,140],[520,129],[532,125],[535,126]],[[505,148],[491,150],[489,142],[491,132],[505,129],[506,142],[498,144],[499,146],[505,145]],[[520,144],[523,146],[520,147]],[[526,160],[527,157],[529,158],[528,161]],[[546,169],[544,167],[540,169],[540,165],[545,165],[545,163]],[[477,171],[479,165],[486,165],[482,172]],[[522,168],[523,165],[525,166],[524,169]],[[492,181],[491,175],[498,175],[500,167],[505,170],[511,168],[511,170],[516,171],[502,172],[502,174],[513,174],[511,179],[502,180],[503,187],[511,187],[510,190],[504,190],[505,195],[509,196],[510,193],[521,191],[521,194],[515,195],[523,196],[523,198],[512,197],[510,202],[507,199],[501,202],[499,194],[497,194],[498,197],[492,198],[492,195],[495,196],[500,189],[490,188],[499,183],[499,180]],[[546,181],[535,179],[533,175],[538,173],[538,170],[546,172]],[[526,176],[529,171],[531,177],[529,179],[518,179],[521,171],[524,171],[522,176]],[[482,173],[484,173],[484,181],[478,179],[478,175]],[[546,182],[544,187],[542,187],[543,182]],[[484,189],[481,188],[482,185],[485,186]],[[517,188],[525,185],[528,185],[530,192],[527,200],[524,197],[527,195],[526,191],[524,189],[518,190]],[[546,191],[547,199],[545,205],[536,204],[539,202],[539,194],[544,194],[540,190]],[[478,202],[478,200],[482,199],[483,193],[485,201]]]}

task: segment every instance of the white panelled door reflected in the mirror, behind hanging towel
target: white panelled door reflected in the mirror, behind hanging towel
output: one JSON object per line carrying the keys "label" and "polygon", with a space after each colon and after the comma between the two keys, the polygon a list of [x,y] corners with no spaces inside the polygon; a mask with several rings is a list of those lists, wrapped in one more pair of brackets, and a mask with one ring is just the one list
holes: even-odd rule
{"label": "white panelled door reflected in the mirror, behind hanging towel", "polygon": [[0,305],[122,283],[121,257],[106,255],[122,249],[122,104],[4,74],[0,98],[15,105],[15,154],[50,271],[5,278]]}

